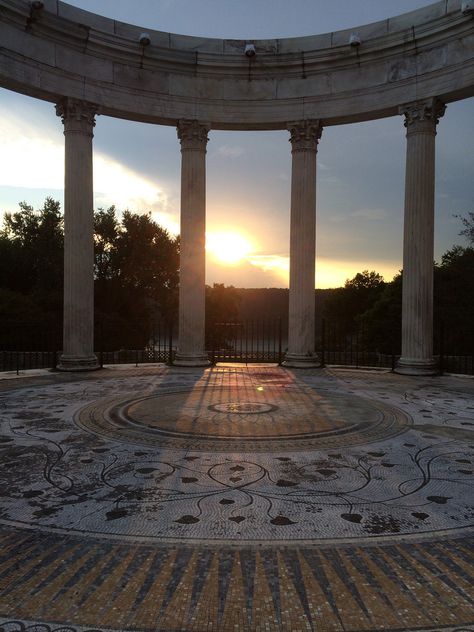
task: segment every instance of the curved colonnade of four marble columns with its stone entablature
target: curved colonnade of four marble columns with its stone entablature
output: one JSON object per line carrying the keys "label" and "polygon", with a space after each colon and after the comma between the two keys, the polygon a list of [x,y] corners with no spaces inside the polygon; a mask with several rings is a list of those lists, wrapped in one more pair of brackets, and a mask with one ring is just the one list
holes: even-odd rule
{"label": "curved colonnade of four marble columns with its stone entablature", "polygon": [[354,29],[230,40],[148,30],[58,0],[0,0],[0,86],[56,105],[65,133],[64,346],[59,368],[93,352],[92,137],[97,115],[172,125],[182,154],[176,363],[205,365],[206,145],[212,130],[290,133],[289,348],[315,366],[316,154],[324,127],[401,115],[407,133],[402,356],[433,358],[435,136],[452,101],[474,96],[474,11],[461,0]]}

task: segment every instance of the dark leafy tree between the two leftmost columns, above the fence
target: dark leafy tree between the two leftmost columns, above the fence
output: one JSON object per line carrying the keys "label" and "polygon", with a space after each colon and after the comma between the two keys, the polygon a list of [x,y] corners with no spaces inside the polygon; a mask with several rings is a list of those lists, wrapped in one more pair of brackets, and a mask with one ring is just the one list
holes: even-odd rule
{"label": "dark leafy tree between the two leftmost columns, above the fence", "polygon": [[[143,346],[152,321],[174,320],[178,304],[179,238],[151,214],[115,207],[95,220],[96,322],[101,345]],[[114,347],[115,345],[115,347]]]}

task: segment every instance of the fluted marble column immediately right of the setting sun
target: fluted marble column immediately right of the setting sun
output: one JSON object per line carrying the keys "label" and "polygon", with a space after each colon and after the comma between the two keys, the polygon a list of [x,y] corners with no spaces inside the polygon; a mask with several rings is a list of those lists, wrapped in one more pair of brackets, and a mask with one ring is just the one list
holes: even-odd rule
{"label": "fluted marble column immediately right of the setting sun", "polygon": [[319,366],[315,353],[316,154],[319,120],[291,123],[290,301],[284,365]]}

